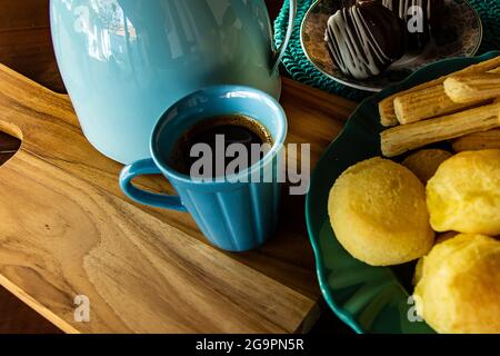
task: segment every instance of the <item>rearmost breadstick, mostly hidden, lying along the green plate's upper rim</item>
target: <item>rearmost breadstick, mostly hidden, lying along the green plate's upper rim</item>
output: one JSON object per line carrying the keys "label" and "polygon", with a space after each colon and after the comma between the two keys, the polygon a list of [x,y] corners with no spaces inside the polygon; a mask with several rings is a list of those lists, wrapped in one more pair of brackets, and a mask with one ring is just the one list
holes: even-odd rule
{"label": "rearmost breadstick, mostly hidden, lying along the green plate's upper rim", "polygon": [[470,66],[470,67],[459,70],[454,73],[451,73],[449,76],[443,76],[441,78],[424,82],[424,83],[417,86],[414,88],[411,88],[409,90],[394,93],[394,95],[383,99],[379,103],[380,123],[382,123],[382,126],[386,126],[386,127],[398,125],[398,118],[394,112],[394,99],[401,95],[422,90],[422,89],[430,88],[430,87],[433,87],[437,85],[442,85],[444,82],[444,80],[451,76],[468,75],[468,73],[481,73],[481,72],[489,71],[489,70],[496,70],[499,67],[500,67],[500,56],[492,58],[490,60],[480,62],[478,65]]}

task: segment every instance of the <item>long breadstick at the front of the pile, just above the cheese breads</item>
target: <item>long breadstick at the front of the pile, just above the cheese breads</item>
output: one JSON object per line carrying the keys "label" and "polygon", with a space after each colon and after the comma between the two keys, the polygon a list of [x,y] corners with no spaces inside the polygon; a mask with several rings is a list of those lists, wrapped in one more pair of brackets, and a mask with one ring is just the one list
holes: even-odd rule
{"label": "long breadstick at the front of the pile, just above the cheese breads", "polygon": [[386,157],[394,157],[430,144],[500,127],[500,103],[390,128],[381,134]]}

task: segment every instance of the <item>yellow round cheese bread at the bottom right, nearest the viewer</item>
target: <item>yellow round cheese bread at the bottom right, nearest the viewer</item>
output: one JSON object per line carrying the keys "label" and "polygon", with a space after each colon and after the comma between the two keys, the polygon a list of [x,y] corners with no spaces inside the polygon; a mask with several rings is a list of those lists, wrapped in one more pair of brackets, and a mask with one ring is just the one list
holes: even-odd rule
{"label": "yellow round cheese bread at the bottom right, nearest the viewer", "polygon": [[418,265],[418,314],[438,333],[500,333],[500,241],[459,235]]}

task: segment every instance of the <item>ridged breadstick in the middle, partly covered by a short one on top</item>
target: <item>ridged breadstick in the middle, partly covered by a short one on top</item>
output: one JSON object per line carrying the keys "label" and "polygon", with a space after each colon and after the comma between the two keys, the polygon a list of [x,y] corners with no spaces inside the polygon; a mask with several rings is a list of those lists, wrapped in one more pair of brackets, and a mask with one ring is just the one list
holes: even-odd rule
{"label": "ridged breadstick in the middle, partly covered by a short one on top", "polygon": [[443,85],[437,85],[396,98],[394,111],[399,123],[408,125],[457,112],[483,101],[478,99],[473,102],[457,103],[447,96]]}

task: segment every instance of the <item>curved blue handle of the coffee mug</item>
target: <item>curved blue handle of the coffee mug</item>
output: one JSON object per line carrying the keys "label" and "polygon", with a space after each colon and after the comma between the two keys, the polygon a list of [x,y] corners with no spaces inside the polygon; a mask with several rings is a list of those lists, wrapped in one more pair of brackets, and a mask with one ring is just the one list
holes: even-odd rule
{"label": "curved blue handle of the coffee mug", "polygon": [[137,202],[157,208],[187,211],[179,197],[146,191],[132,185],[132,179],[136,177],[158,174],[161,174],[161,170],[151,158],[138,160],[122,169],[120,174],[120,188],[130,199]]}

